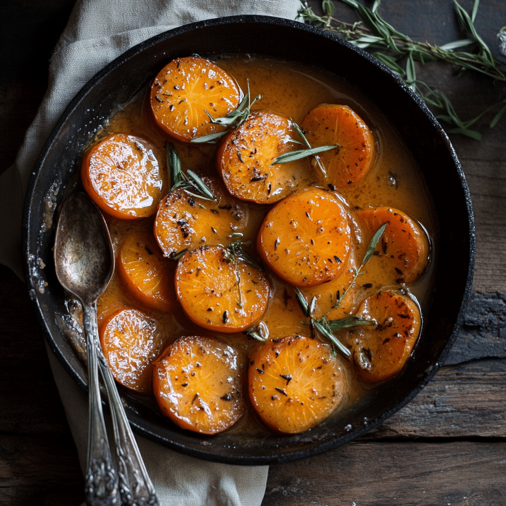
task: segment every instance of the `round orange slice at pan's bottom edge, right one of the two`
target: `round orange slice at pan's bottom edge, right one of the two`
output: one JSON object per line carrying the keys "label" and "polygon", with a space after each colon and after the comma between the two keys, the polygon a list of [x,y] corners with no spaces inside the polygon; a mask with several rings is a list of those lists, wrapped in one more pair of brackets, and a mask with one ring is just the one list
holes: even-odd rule
{"label": "round orange slice at pan's bottom edge, right one of the two", "polygon": [[343,399],[344,368],[330,348],[316,340],[289,336],[253,353],[249,397],[266,425],[297,434],[323,421]]}

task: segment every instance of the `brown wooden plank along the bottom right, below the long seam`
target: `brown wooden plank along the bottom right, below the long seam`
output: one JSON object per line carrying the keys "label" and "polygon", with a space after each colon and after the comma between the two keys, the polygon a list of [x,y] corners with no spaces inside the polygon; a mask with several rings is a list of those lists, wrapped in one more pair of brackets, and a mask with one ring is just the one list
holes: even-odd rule
{"label": "brown wooden plank along the bottom right, below the long seam", "polygon": [[262,506],[499,506],[506,443],[349,443],[271,466]]}

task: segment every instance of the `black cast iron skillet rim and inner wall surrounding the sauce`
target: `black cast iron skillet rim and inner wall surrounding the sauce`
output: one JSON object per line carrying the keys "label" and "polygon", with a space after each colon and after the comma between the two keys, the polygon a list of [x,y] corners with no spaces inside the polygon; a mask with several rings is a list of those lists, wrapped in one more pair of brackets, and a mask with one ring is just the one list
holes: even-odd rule
{"label": "black cast iron skillet rim and inner wall surrounding the sauce", "polygon": [[[79,171],[83,148],[111,111],[128,101],[164,64],[197,53],[258,54],[315,64],[348,81],[379,106],[421,167],[439,229],[435,282],[423,332],[409,366],[381,395],[299,435],[261,437],[225,432],[201,436],[176,428],[156,409],[121,390],[134,430],[189,455],[247,465],[283,462],[334,448],[377,426],[412,399],[444,362],[469,298],[475,256],[469,189],[441,126],[417,95],[383,64],[342,39],[311,26],[262,16],[202,21],[162,33],[110,63],[78,93],[41,152],[26,195],[23,221],[26,279],[46,339],[84,390],[85,367],[67,339],[64,293],[52,261],[55,215],[65,189]],[[43,262],[43,263],[42,263]],[[45,268],[42,266],[45,264]],[[47,285],[45,286],[45,283]],[[348,426],[348,428],[347,428]],[[351,426],[351,429],[350,429]]]}

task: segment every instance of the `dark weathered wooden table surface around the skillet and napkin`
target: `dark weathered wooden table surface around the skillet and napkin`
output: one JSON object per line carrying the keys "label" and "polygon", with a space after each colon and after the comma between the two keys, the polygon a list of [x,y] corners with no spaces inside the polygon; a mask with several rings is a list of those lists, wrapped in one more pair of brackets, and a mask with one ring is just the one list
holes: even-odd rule
{"label": "dark weathered wooden table surface around the skillet and napkin", "polygon": [[[51,50],[73,3],[14,0],[3,7],[2,172],[45,93]],[[461,4],[470,11],[471,0]],[[358,20],[336,6],[340,19]],[[450,0],[385,0],[379,11],[414,39],[444,44],[465,36]],[[495,34],[505,24],[504,0],[481,3],[476,26],[496,55]],[[418,68],[464,118],[506,96],[504,83],[456,73],[438,64]],[[506,504],[506,117],[493,130],[490,119],[477,123],[480,142],[451,136],[471,188],[477,257],[472,301],[448,360],[407,406],[360,440],[271,466],[263,506]],[[44,338],[24,284],[0,269],[0,504],[79,504],[83,480]]]}

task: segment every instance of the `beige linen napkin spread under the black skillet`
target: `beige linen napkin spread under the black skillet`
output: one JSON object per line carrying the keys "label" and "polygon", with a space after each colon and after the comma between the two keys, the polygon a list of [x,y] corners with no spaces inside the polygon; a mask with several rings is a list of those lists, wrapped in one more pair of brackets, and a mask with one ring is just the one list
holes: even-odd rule
{"label": "beige linen napkin spread under the black skillet", "polygon": [[[21,219],[33,165],[58,117],[96,72],[132,46],[182,24],[237,14],[295,19],[299,6],[299,0],[78,0],[51,59],[46,96],[16,163],[0,177],[0,262],[23,278]],[[87,395],[49,349],[48,354],[84,469]],[[137,441],[161,506],[254,506],[262,502],[266,466],[212,463],[142,437]]]}

